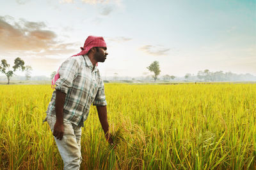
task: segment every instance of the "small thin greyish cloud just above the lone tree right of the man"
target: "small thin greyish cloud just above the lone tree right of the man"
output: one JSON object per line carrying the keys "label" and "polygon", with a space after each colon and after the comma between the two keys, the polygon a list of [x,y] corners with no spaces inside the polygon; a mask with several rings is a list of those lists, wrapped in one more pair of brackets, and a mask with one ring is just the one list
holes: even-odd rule
{"label": "small thin greyish cloud just above the lone tree right of the man", "polygon": [[139,48],[139,50],[154,56],[167,55],[170,51],[170,48],[164,48],[163,46],[155,45],[144,45]]}

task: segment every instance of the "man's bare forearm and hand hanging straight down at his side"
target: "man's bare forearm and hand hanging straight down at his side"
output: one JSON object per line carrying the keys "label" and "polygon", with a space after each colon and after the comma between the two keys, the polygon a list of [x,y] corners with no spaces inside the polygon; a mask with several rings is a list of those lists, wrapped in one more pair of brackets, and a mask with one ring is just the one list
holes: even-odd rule
{"label": "man's bare forearm and hand hanging straight down at his side", "polygon": [[62,139],[64,134],[64,125],[63,125],[63,108],[65,102],[66,94],[61,92],[61,90],[56,90],[56,99],[55,99],[55,112],[56,112],[56,123],[53,129],[53,136],[57,139]]}

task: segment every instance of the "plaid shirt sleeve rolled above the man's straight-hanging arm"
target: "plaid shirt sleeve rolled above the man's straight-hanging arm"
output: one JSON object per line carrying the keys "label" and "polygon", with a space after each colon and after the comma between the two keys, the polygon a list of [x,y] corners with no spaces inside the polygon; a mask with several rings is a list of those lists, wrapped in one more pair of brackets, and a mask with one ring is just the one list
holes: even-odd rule
{"label": "plaid shirt sleeve rolled above the man's straight-hanging arm", "polygon": [[75,57],[70,57],[65,60],[65,62],[61,64],[59,70],[60,78],[56,81],[55,89],[61,90],[61,92],[67,94],[68,89],[72,87],[73,80],[77,76],[78,68],[78,62]]}

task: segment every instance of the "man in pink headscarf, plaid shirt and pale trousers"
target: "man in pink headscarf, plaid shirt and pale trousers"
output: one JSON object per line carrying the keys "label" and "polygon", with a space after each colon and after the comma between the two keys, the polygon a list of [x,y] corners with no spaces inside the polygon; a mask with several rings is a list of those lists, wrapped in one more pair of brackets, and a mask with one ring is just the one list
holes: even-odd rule
{"label": "man in pink headscarf, plaid shirt and pale trousers", "polygon": [[107,103],[103,80],[97,62],[108,55],[102,37],[88,36],[81,52],[63,62],[52,79],[56,85],[47,108],[47,121],[64,162],[64,169],[79,169],[81,157],[81,127],[88,117],[90,106],[97,107],[100,124],[109,144]]}

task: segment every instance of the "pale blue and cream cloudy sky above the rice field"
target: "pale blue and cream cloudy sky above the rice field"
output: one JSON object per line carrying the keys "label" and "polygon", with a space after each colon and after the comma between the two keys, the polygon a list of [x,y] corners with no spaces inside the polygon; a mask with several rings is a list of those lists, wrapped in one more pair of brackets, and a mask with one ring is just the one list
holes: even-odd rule
{"label": "pale blue and cream cloudy sky above the rice field", "polygon": [[32,76],[50,76],[90,35],[108,45],[102,76],[147,76],[155,60],[162,76],[204,69],[256,75],[256,0],[0,0],[0,6],[0,60],[13,66],[20,57]]}

